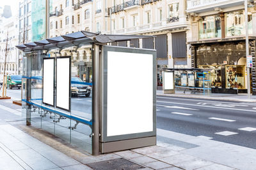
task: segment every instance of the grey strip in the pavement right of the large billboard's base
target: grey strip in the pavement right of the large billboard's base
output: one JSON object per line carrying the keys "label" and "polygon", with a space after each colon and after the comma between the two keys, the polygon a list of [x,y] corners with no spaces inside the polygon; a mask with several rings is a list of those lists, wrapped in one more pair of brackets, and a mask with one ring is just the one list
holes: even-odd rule
{"label": "grey strip in the pavement right of the large billboard's base", "polygon": [[184,141],[179,141],[176,139],[171,139],[171,138],[166,138],[163,136],[157,136],[157,141],[163,142],[163,143],[168,143],[170,145],[175,145],[175,146],[179,146],[181,148],[186,148],[186,149],[191,149],[191,148],[196,148],[198,147],[198,145],[195,145],[193,143],[187,143]]}

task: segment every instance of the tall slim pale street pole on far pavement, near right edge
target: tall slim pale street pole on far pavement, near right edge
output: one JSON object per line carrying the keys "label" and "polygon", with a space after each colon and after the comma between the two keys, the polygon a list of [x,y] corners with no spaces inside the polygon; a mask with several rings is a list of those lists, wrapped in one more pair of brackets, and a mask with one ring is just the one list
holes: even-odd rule
{"label": "tall slim pale street pole on far pavement, near right edge", "polygon": [[[246,61],[249,55],[249,35],[248,35],[248,0],[244,1],[244,11],[245,11],[245,30],[246,30]],[[251,98],[251,81],[250,81],[250,67],[247,67],[247,89],[248,98]]]}

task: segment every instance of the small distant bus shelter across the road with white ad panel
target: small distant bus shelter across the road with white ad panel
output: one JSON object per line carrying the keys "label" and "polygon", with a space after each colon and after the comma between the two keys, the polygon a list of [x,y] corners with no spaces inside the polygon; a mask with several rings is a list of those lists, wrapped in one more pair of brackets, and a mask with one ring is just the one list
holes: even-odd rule
{"label": "small distant bus shelter across the road with white ad panel", "polygon": [[184,94],[190,90],[191,94],[202,92],[204,95],[211,92],[211,71],[197,68],[164,68],[163,92],[173,94],[175,90],[182,89]]}

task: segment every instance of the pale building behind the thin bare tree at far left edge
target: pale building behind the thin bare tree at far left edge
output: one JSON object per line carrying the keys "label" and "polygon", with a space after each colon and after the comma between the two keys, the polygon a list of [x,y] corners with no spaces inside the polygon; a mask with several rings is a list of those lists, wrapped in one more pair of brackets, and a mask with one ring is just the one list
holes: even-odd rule
{"label": "pale building behind the thin bare tree at far left edge", "polygon": [[5,74],[18,74],[19,50],[15,48],[15,45],[19,45],[18,18],[15,16],[10,18],[0,18],[0,73],[4,74],[5,55],[7,51]]}

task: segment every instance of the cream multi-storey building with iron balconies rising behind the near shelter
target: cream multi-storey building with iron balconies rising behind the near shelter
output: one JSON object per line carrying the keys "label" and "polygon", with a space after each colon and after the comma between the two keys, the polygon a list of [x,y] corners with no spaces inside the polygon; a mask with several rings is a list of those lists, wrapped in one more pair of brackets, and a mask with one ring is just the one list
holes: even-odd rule
{"label": "cream multi-storey building with iron balconies rising behind the near shelter", "polygon": [[[157,50],[157,78],[161,86],[161,68],[188,67],[191,59],[186,42],[191,37],[186,15],[186,0],[61,0],[52,2],[50,37],[76,31],[102,34],[140,34],[154,38],[113,43],[118,46]],[[91,59],[90,48],[74,60]],[[81,56],[82,55],[82,56]]]}

